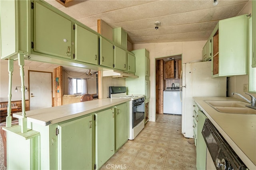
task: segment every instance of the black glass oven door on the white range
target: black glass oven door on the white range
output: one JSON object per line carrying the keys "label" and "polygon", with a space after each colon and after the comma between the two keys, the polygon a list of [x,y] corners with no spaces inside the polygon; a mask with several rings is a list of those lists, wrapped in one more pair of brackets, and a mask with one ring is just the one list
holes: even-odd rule
{"label": "black glass oven door on the white range", "polygon": [[132,104],[132,128],[136,127],[145,117],[145,102]]}

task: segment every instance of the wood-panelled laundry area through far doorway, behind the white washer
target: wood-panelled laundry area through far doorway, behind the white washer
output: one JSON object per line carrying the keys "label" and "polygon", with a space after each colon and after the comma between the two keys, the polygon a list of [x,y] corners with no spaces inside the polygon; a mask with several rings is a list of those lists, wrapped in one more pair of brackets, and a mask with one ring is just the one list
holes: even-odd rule
{"label": "wood-panelled laundry area through far doorway, behind the white washer", "polygon": [[156,114],[163,114],[164,90],[180,86],[182,55],[173,55],[156,59]]}

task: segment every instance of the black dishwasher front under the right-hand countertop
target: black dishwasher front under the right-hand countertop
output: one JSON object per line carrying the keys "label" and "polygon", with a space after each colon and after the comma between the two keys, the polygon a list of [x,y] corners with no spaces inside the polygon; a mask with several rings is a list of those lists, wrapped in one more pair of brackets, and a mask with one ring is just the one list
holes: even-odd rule
{"label": "black dishwasher front under the right-hand countertop", "polygon": [[204,122],[202,135],[217,170],[248,170],[209,119]]}

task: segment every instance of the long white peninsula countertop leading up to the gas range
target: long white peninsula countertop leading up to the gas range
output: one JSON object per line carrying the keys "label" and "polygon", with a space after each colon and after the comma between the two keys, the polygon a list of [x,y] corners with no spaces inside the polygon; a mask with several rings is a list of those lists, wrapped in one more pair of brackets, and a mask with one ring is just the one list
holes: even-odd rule
{"label": "long white peninsula countertop leading up to the gas range", "polygon": [[[63,106],[49,107],[44,109],[36,109],[26,111],[27,121],[37,123],[43,126],[59,123],[75,117],[97,112],[108,107],[116,106],[130,99],[99,99],[90,100],[86,102],[78,102],[74,104],[67,104]],[[13,117],[22,118],[22,112],[13,113]]]}

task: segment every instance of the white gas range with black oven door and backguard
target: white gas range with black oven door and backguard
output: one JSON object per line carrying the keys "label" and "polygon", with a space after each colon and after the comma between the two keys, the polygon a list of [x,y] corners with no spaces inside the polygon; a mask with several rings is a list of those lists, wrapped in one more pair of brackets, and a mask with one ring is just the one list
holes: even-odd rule
{"label": "white gas range with black oven door and backguard", "polygon": [[143,95],[126,95],[125,86],[110,86],[109,98],[130,98],[130,140],[133,140],[144,128],[145,102]]}

